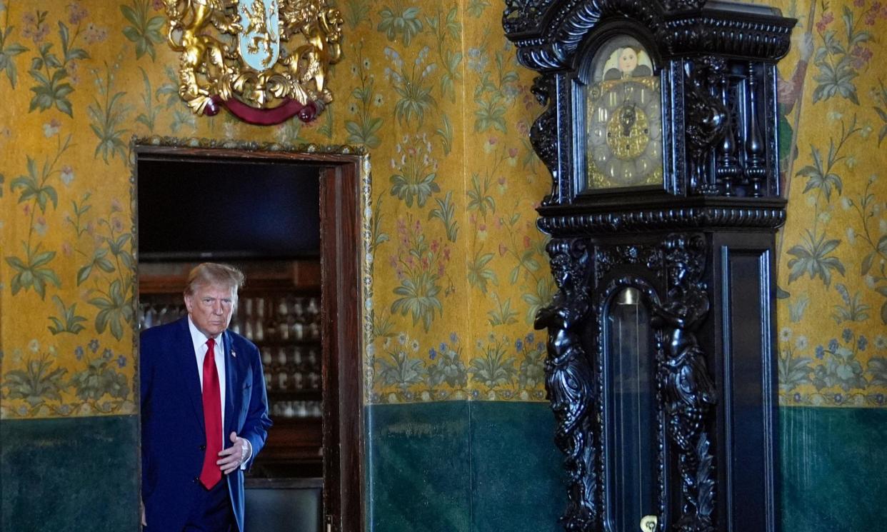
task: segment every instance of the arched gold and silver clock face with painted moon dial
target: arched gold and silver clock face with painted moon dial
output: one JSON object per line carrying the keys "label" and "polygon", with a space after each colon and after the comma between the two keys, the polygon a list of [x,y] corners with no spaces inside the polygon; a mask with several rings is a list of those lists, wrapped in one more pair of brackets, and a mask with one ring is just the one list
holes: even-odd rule
{"label": "arched gold and silver clock face with painted moon dial", "polygon": [[[623,37],[623,40],[625,37]],[[662,105],[659,78],[640,47],[616,46],[588,88],[588,188],[662,184]],[[601,75],[602,74],[602,75]]]}

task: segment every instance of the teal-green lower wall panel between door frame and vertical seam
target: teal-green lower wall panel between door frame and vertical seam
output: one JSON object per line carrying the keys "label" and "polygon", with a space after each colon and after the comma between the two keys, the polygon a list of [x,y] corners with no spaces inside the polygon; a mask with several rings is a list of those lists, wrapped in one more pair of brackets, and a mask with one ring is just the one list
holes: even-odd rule
{"label": "teal-green lower wall panel between door frame and vertical seam", "polygon": [[367,528],[468,532],[468,403],[366,407]]}

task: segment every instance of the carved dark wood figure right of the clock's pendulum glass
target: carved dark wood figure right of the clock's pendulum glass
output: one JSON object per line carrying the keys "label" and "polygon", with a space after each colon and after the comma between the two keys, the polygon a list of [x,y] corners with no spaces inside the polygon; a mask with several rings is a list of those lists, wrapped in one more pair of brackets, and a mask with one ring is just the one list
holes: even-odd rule
{"label": "carved dark wood figure right of the clock's pendulum glass", "polygon": [[709,314],[702,281],[706,245],[703,235],[670,235],[663,243],[668,297],[653,309],[652,325],[662,329],[666,359],[662,375],[668,433],[677,447],[681,479],[679,532],[712,532],[715,504],[713,458],[706,429],[715,387],[696,332]]}

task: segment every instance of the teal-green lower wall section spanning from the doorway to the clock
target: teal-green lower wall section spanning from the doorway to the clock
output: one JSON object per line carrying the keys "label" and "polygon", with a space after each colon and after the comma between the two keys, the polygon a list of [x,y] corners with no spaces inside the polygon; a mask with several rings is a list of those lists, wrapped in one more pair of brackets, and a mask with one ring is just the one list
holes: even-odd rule
{"label": "teal-green lower wall section spanning from the doorway to the clock", "polygon": [[554,532],[561,457],[546,403],[366,409],[372,532]]}

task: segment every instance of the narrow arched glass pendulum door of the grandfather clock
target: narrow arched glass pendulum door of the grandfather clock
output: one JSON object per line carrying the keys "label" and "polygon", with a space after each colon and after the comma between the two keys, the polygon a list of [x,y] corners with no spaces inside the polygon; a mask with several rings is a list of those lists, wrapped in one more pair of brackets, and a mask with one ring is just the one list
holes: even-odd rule
{"label": "narrow arched glass pendulum door of the grandfather clock", "polygon": [[604,343],[608,532],[635,532],[655,515],[658,447],[649,312],[636,288],[609,305]]}

